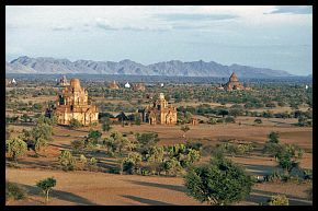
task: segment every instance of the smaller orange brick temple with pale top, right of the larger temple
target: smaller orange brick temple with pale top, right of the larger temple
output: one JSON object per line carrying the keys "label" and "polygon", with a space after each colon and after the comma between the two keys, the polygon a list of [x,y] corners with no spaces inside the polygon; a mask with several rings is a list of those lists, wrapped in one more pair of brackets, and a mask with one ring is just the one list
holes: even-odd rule
{"label": "smaller orange brick temple with pale top, right of the larger temple", "polygon": [[159,99],[155,101],[152,105],[145,109],[138,110],[141,115],[141,120],[149,125],[175,125],[177,124],[177,108],[169,105],[164,98],[163,93],[160,93]]}

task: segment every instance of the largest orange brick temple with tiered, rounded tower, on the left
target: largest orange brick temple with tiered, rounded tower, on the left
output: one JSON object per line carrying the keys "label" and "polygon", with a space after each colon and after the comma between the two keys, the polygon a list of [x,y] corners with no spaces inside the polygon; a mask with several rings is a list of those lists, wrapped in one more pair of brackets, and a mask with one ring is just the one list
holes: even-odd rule
{"label": "largest orange brick temple with tiered, rounded tower, on the left", "polygon": [[77,119],[82,126],[98,122],[99,113],[94,105],[88,102],[88,91],[80,86],[78,79],[71,79],[70,85],[63,90],[54,110],[59,125],[70,125]]}

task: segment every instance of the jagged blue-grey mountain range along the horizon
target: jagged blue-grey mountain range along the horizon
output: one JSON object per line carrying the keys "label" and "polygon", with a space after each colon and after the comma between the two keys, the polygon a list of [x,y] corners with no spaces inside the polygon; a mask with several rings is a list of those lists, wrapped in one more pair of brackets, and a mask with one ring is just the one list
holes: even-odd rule
{"label": "jagged blue-grey mountain range along the horizon", "polygon": [[134,74],[134,75],[168,75],[168,77],[218,77],[228,78],[231,72],[239,78],[274,78],[293,77],[286,71],[248,66],[231,65],[223,66],[215,61],[183,62],[171,60],[144,66],[125,59],[114,61],[92,61],[68,59],[55,59],[47,57],[30,58],[19,57],[11,62],[5,62],[7,73],[41,73],[41,74]]}

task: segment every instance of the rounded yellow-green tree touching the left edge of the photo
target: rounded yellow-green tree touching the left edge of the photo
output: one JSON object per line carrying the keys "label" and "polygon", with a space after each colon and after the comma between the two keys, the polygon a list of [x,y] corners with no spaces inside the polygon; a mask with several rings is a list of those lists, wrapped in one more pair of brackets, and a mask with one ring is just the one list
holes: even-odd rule
{"label": "rounded yellow-green tree touching the left edge of the photo", "polygon": [[5,152],[13,159],[13,161],[18,161],[19,156],[22,156],[26,153],[27,145],[20,138],[13,138],[5,140]]}

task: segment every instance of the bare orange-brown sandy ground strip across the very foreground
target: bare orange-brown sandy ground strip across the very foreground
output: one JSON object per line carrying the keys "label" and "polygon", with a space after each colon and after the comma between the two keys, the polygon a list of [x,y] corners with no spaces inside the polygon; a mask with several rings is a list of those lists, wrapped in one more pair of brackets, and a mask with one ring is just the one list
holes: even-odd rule
{"label": "bare orange-brown sandy ground strip across the very foreground", "polygon": [[[43,204],[44,199],[35,184],[52,176],[57,179],[57,185],[49,206],[202,206],[185,195],[182,178],[7,168],[5,178],[29,192],[27,199],[9,204]],[[258,206],[276,194],[286,195],[291,204],[311,204],[305,192],[309,187],[310,184],[258,184],[239,204]]]}

